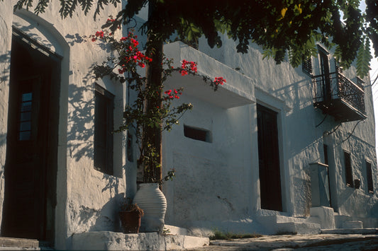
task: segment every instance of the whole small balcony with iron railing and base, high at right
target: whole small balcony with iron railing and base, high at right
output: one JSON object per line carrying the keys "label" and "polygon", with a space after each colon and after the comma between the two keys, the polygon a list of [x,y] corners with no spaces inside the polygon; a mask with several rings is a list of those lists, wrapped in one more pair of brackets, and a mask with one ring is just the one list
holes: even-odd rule
{"label": "whole small balcony with iron railing and base, high at right", "polygon": [[312,77],[313,106],[335,121],[348,122],[366,119],[365,91],[361,83],[353,83],[336,71],[328,75]]}

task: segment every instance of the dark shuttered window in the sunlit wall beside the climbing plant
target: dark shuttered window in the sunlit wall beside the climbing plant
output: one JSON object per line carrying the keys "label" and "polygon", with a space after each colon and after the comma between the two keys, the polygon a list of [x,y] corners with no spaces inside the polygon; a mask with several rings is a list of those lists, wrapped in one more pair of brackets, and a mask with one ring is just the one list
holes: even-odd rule
{"label": "dark shuttered window in the sunlit wall beside the climbing plant", "polygon": [[114,96],[97,85],[94,93],[94,169],[113,175]]}

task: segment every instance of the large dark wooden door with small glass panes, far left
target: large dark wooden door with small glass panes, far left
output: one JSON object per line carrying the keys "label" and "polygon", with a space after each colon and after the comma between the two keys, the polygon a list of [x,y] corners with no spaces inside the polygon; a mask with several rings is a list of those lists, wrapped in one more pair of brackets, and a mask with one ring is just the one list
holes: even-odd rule
{"label": "large dark wooden door with small glass panes, far left", "polygon": [[53,245],[60,58],[13,28],[1,235]]}

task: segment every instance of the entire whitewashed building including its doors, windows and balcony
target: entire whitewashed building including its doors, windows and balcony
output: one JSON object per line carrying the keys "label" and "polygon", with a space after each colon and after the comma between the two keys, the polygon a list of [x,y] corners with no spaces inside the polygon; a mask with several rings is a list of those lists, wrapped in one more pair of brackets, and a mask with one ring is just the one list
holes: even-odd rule
{"label": "entire whitewashed building including its doors, windows and balcony", "polygon": [[[127,86],[94,81],[109,51],[87,38],[119,8],[62,20],[55,3],[35,16],[15,2],[0,1],[1,235],[70,249],[77,233],[119,231],[119,200],[137,188],[132,134],[111,134]],[[226,36],[220,49],[165,45],[175,64],[227,81],[216,92],[200,76],[166,83],[194,105],[163,135],[164,172],[176,170],[163,186],[167,224],[192,235],[378,227],[369,79],[318,52],[294,69],[256,45],[238,54]]]}

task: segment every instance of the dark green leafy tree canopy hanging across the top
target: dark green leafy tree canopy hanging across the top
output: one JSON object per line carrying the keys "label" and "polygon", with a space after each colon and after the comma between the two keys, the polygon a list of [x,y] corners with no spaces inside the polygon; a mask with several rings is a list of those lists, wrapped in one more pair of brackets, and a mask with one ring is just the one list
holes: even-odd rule
{"label": "dark green leafy tree canopy hanging across the top", "polygon": [[[94,6],[96,18],[105,5],[121,4],[121,0],[59,1],[62,18],[72,16],[79,7],[87,15]],[[35,6],[33,10],[38,14],[45,12],[50,2],[18,0],[15,8]],[[218,33],[226,33],[237,41],[238,52],[248,52],[248,45],[255,42],[264,50],[264,56],[272,57],[277,64],[289,52],[294,67],[316,54],[316,42],[322,42],[326,47],[335,47],[335,57],[345,67],[357,59],[357,74],[361,77],[369,71],[369,40],[378,56],[378,6],[374,0],[366,1],[366,13],[358,8],[360,0],[128,0],[116,21],[128,22],[148,4],[154,4],[155,11],[142,28],[161,40],[168,40],[174,33],[188,42],[204,35],[211,47],[220,47]],[[332,40],[328,40],[330,37]]]}

